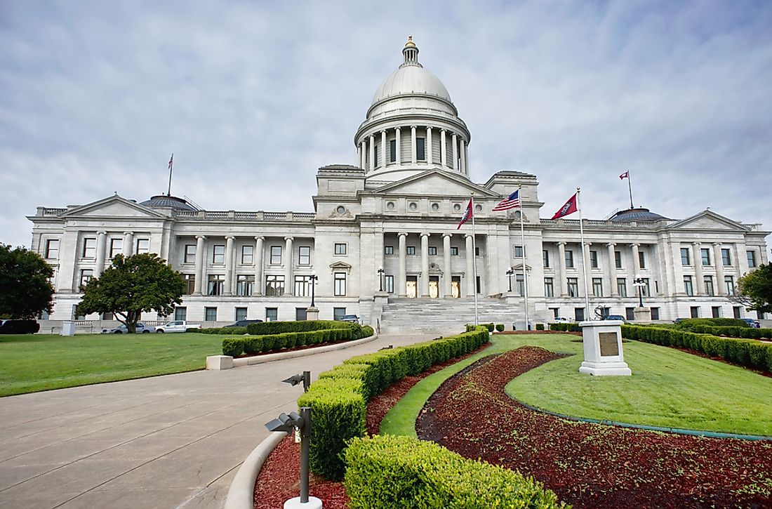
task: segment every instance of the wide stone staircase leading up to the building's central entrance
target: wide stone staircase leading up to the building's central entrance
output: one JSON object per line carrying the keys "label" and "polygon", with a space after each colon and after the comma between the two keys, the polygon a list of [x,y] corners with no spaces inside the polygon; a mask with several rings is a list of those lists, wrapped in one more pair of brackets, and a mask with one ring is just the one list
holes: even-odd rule
{"label": "wide stone staircase leading up to the building's central entrance", "polygon": [[[503,300],[478,297],[479,323],[504,324],[511,330],[516,319],[523,319],[523,311],[516,310]],[[381,333],[408,334],[458,334],[466,324],[475,321],[475,300],[473,297],[460,299],[409,299],[390,297],[381,314]]]}

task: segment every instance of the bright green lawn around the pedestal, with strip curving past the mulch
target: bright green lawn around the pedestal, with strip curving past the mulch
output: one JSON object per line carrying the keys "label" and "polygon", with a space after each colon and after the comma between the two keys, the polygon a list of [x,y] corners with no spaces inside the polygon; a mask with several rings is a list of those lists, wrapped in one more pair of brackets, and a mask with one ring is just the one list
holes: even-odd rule
{"label": "bright green lawn around the pedestal, with strip curving past the mulch", "polygon": [[506,392],[540,409],[591,419],[772,436],[772,378],[638,341],[625,343],[631,377],[578,372],[582,345],[569,335],[493,335],[493,346],[424,378],[381,423],[381,433],[415,436],[415,418],[446,378],[484,355],[533,344],[576,354],[513,379]]}

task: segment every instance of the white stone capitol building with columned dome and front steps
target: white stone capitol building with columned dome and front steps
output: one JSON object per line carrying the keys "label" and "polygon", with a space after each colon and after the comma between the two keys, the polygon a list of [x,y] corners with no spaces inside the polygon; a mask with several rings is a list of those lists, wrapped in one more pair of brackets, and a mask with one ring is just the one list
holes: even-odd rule
{"label": "white stone capitol building with columned dome and front steps", "polygon": [[[356,129],[355,164],[318,169],[313,212],[201,210],[171,195],[38,207],[32,249],[55,269],[44,318],[72,319],[80,287],[113,256],[145,252],[185,277],[174,318],[205,326],[305,319],[313,277],[321,319],[357,314],[391,331],[473,321],[475,300],[481,321],[509,328],[526,290],[531,321],[581,320],[597,306],[633,319],[638,289],[654,321],[756,317],[726,297],[767,263],[770,232],[709,210],[671,219],[631,208],[584,219],[582,246],[577,219],[543,219],[553,211],[541,210],[536,175],[470,180],[472,136],[448,90],[412,40],[402,56]],[[493,212],[519,186],[522,209]],[[471,221],[459,228],[472,196],[473,233]]]}

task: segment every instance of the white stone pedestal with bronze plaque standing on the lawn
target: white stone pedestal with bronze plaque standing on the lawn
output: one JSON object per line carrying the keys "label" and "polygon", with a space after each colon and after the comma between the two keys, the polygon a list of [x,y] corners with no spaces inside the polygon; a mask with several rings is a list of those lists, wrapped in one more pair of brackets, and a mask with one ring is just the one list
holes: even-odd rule
{"label": "white stone pedestal with bronze plaque standing on the lawn", "polygon": [[584,362],[580,373],[595,376],[629,376],[630,368],[622,354],[621,324],[618,320],[580,322],[584,343]]}

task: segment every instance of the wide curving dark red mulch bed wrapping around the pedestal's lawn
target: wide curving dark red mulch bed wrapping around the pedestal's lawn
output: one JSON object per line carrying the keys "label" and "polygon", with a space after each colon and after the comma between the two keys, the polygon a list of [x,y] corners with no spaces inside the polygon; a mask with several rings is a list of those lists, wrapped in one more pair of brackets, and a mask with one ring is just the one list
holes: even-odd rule
{"label": "wide curving dark red mulch bed wrapping around the pedestal's lawn", "polygon": [[574,507],[772,507],[769,441],[568,421],[504,393],[512,378],[557,357],[523,347],[482,359],[432,395],[418,436],[531,475]]}

